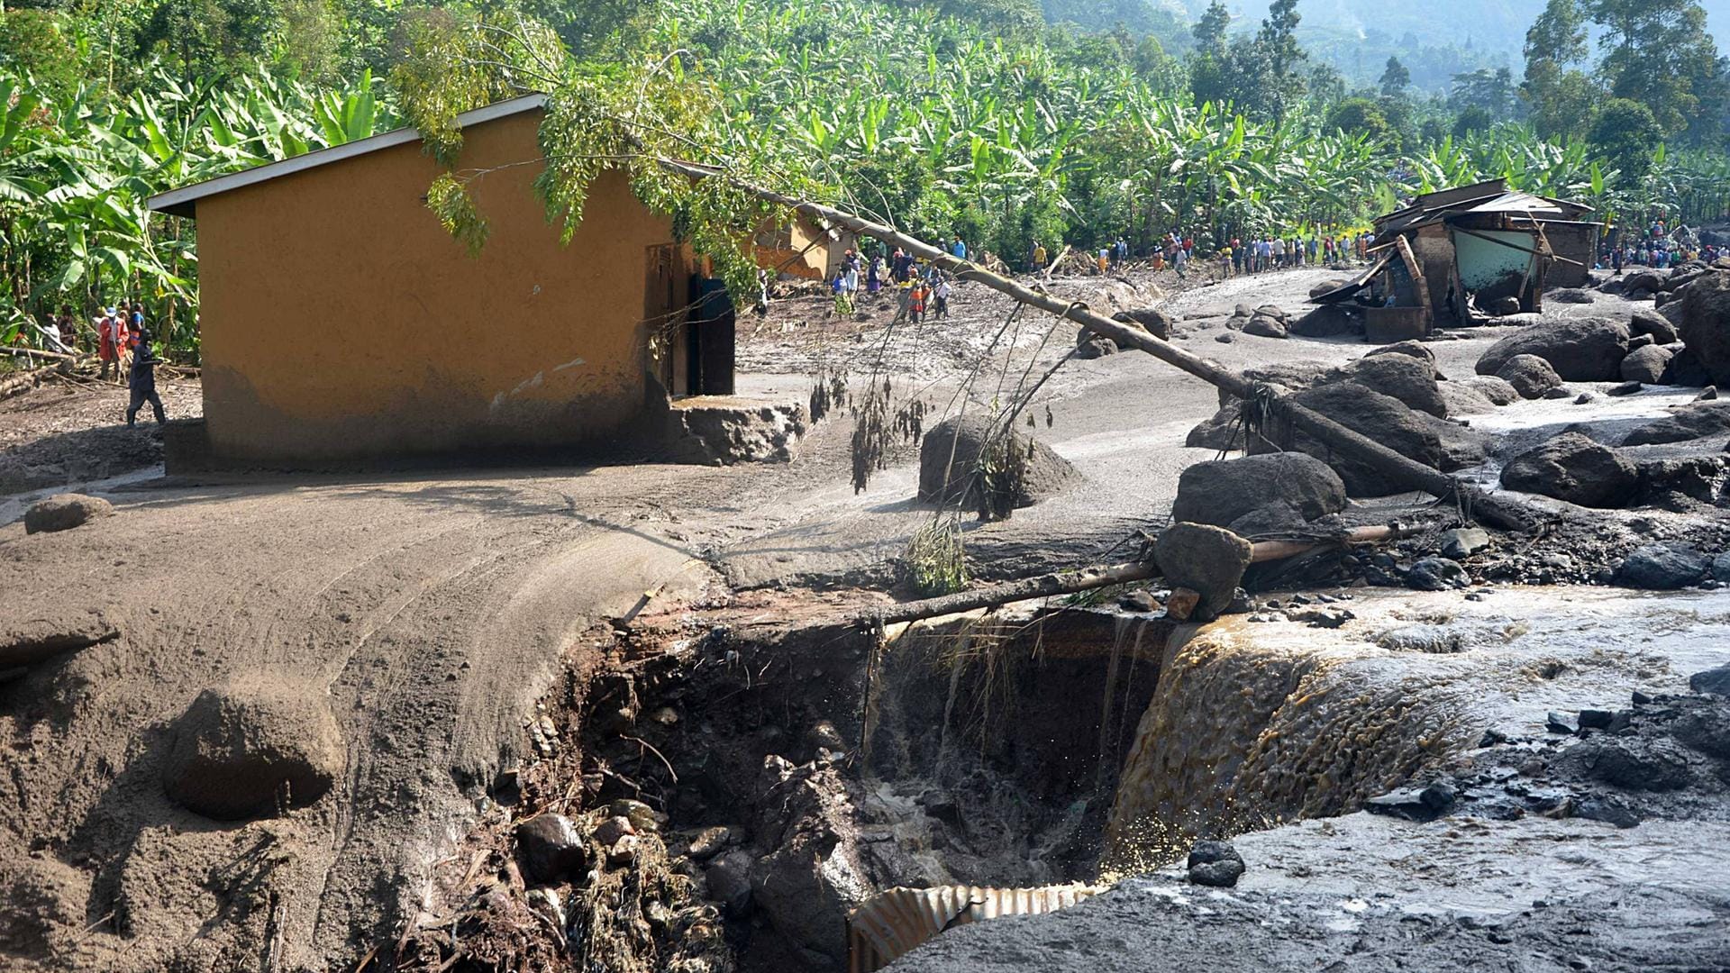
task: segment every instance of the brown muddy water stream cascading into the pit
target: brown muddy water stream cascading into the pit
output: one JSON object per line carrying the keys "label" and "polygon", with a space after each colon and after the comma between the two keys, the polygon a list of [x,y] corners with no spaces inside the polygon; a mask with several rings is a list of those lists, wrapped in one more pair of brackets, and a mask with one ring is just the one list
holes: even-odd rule
{"label": "brown muddy water stream cascading into the pit", "polygon": [[1602,589],[1360,592],[1344,627],[1232,616],[1180,632],[1124,762],[1112,864],[1197,836],[1334,815],[1548,710],[1680,691],[1730,660],[1730,594]]}

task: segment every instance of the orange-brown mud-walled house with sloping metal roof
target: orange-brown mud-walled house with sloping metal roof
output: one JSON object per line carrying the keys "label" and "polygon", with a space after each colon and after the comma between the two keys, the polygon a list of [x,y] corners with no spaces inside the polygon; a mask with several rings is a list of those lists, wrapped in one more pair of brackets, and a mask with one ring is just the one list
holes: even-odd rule
{"label": "orange-brown mud-walled house with sloping metal roof", "polygon": [[561,244],[522,164],[543,104],[458,118],[476,256],[427,209],[441,166],[412,128],[154,197],[199,241],[204,422],[171,461],[609,448],[732,393],[732,305],[623,173]]}

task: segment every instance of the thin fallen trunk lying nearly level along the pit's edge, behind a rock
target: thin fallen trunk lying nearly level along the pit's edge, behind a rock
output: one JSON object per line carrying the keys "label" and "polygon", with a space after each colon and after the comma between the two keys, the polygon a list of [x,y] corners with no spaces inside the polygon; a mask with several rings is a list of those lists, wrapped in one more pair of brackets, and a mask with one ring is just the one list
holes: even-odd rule
{"label": "thin fallen trunk lying nearly level along the pit's edge, behind a rock", "polygon": [[[1346,532],[1344,537],[1336,540],[1261,540],[1251,545],[1249,563],[1261,564],[1266,561],[1284,561],[1285,557],[1296,557],[1298,554],[1308,554],[1322,547],[1342,544],[1375,544],[1381,540],[1408,537],[1410,533],[1413,533],[1413,528],[1360,526]],[[984,589],[874,608],[860,611],[853,616],[853,620],[855,623],[900,625],[905,622],[919,622],[922,618],[960,615],[977,608],[996,608],[1016,601],[1031,601],[1035,597],[1052,597],[1059,594],[1105,589],[1128,582],[1144,582],[1147,578],[1157,578],[1159,575],[1159,564],[1150,559],[1107,564],[1102,568],[1085,568],[1080,571],[1055,571],[1050,575],[1036,575],[1033,578],[1021,578],[1017,582],[1005,582]]]}

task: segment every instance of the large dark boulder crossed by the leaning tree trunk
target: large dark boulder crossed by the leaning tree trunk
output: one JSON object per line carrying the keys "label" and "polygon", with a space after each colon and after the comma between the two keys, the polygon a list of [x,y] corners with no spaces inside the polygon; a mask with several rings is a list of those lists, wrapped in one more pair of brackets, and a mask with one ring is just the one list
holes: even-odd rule
{"label": "large dark boulder crossed by the leaning tree trunk", "polygon": [[[1436,426],[1432,426],[1432,422],[1448,422],[1413,412],[1398,398],[1372,391],[1356,383],[1332,383],[1301,391],[1292,396],[1292,402],[1313,409],[1408,459],[1438,469],[1451,467],[1448,464],[1448,450],[1443,448],[1441,436]],[[1346,493],[1351,497],[1387,497],[1410,490],[1410,485],[1389,480],[1386,473],[1374,466],[1337,455],[1327,443],[1308,436],[1301,429],[1292,429],[1287,448],[1306,452],[1329,462],[1346,483]],[[1278,452],[1278,447],[1258,436],[1249,443],[1249,452]]]}

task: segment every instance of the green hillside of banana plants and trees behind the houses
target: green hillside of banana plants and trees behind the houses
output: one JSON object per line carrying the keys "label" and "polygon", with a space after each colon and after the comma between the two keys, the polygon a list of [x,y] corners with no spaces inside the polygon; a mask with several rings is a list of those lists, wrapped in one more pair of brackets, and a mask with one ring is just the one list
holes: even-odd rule
{"label": "green hillside of banana plants and trees behind the houses", "polygon": [[[1308,5],[1277,0],[1242,29],[1214,3],[1183,43],[1159,40],[1175,19],[1157,10],[1088,31],[1047,26],[1031,0],[9,7],[0,327],[10,338],[61,305],[133,298],[195,355],[194,225],[152,216],[151,194],[566,85],[597,104],[652,88],[683,126],[676,154],[915,232],[962,232],[1010,265],[1033,241],[1351,227],[1398,196],[1484,177],[1612,220],[1721,215],[1725,66],[1690,0],[1623,19],[1609,0],[1550,0],[1521,28],[1524,62],[1455,78],[1448,97],[1419,92],[1398,59],[1348,81],[1304,48]],[[1086,12],[1050,0],[1043,14],[1066,10]],[[554,121],[586,125],[583,137],[607,125]],[[580,194],[557,177],[581,173],[554,175],[555,209],[576,215]],[[460,180],[432,203],[453,229],[483,225]],[[657,203],[699,234],[747,216]]]}

